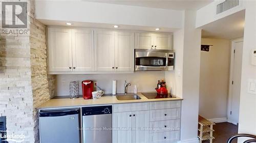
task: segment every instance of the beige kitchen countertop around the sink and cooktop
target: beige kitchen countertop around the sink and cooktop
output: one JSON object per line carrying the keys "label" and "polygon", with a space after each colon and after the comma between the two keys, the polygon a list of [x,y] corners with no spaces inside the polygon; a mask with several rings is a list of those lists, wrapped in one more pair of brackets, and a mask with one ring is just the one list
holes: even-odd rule
{"label": "beige kitchen countertop around the sink and cooktop", "polygon": [[[116,96],[102,96],[97,99],[83,99],[82,97],[76,99],[60,98],[50,99],[45,103],[38,106],[38,109],[42,108],[59,108],[59,107],[77,107],[87,105],[101,105],[101,104],[118,104],[118,103],[136,103],[136,102],[152,102],[152,101],[170,101],[170,100],[183,100],[182,98],[158,98],[158,99],[147,99],[141,93],[137,94],[141,99],[138,100],[117,100]],[[125,96],[125,95],[124,95]]]}

